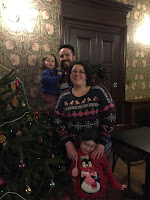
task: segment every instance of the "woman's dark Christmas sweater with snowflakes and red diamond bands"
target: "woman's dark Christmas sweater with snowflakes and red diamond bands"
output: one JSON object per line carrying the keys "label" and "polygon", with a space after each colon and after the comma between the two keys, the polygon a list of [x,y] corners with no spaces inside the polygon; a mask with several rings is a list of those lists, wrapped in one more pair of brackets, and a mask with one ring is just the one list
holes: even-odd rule
{"label": "woman's dark Christmas sweater with snowflakes and red diamond bands", "polygon": [[55,128],[61,142],[78,141],[83,129],[99,127],[100,144],[106,145],[116,120],[111,95],[102,85],[94,85],[82,97],[69,89],[61,94],[55,110]]}

